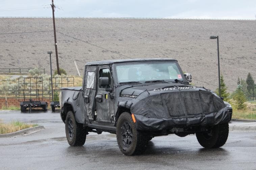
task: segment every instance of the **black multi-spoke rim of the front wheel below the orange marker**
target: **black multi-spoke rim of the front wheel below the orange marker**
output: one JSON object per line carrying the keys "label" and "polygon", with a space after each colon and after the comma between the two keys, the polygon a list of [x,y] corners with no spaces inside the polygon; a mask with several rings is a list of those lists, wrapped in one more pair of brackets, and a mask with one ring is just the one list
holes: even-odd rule
{"label": "black multi-spoke rim of the front wheel below the orange marker", "polygon": [[133,141],[132,127],[129,122],[124,122],[121,129],[122,142],[126,147],[129,147]]}

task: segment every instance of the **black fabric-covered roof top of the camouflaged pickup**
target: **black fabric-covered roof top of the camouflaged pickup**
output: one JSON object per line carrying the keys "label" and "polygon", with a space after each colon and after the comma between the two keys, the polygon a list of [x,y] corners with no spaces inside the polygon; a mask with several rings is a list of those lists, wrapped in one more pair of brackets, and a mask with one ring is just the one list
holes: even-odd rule
{"label": "black fabric-covered roof top of the camouflaged pickup", "polygon": [[104,61],[95,61],[95,62],[88,62],[85,65],[105,65],[105,64],[113,64],[113,63],[125,63],[125,62],[134,62],[134,61],[177,61],[174,59],[127,59],[127,60],[104,60]]}

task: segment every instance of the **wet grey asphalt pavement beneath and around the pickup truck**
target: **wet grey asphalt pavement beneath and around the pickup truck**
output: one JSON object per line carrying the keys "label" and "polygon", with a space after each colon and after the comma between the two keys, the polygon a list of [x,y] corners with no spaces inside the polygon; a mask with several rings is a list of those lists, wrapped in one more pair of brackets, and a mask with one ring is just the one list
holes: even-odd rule
{"label": "wet grey asphalt pavement beneath and around the pickup truck", "polygon": [[84,146],[70,147],[59,113],[0,111],[5,122],[20,120],[45,129],[0,138],[0,169],[209,169],[256,170],[256,133],[230,132],[227,143],[204,149],[195,135],[155,137],[144,155],[125,156],[116,136],[90,133]]}

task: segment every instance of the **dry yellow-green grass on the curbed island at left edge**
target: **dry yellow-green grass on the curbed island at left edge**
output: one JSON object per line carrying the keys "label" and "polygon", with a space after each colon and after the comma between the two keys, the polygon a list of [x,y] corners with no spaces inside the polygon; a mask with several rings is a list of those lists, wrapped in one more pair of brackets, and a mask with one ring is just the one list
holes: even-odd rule
{"label": "dry yellow-green grass on the curbed island at left edge", "polygon": [[38,126],[37,124],[25,124],[23,122],[15,121],[10,123],[3,123],[2,120],[0,120],[0,134],[6,134],[11,132],[16,132],[22,129],[27,129],[31,127]]}

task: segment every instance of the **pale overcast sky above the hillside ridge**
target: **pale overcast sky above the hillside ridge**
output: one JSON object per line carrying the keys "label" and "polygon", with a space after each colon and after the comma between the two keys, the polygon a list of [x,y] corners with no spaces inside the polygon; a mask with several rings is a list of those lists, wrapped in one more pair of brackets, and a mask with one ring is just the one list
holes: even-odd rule
{"label": "pale overcast sky above the hillside ridge", "polygon": [[[0,16],[52,16],[51,0],[0,0]],[[255,0],[54,0],[56,17],[256,19]]]}

